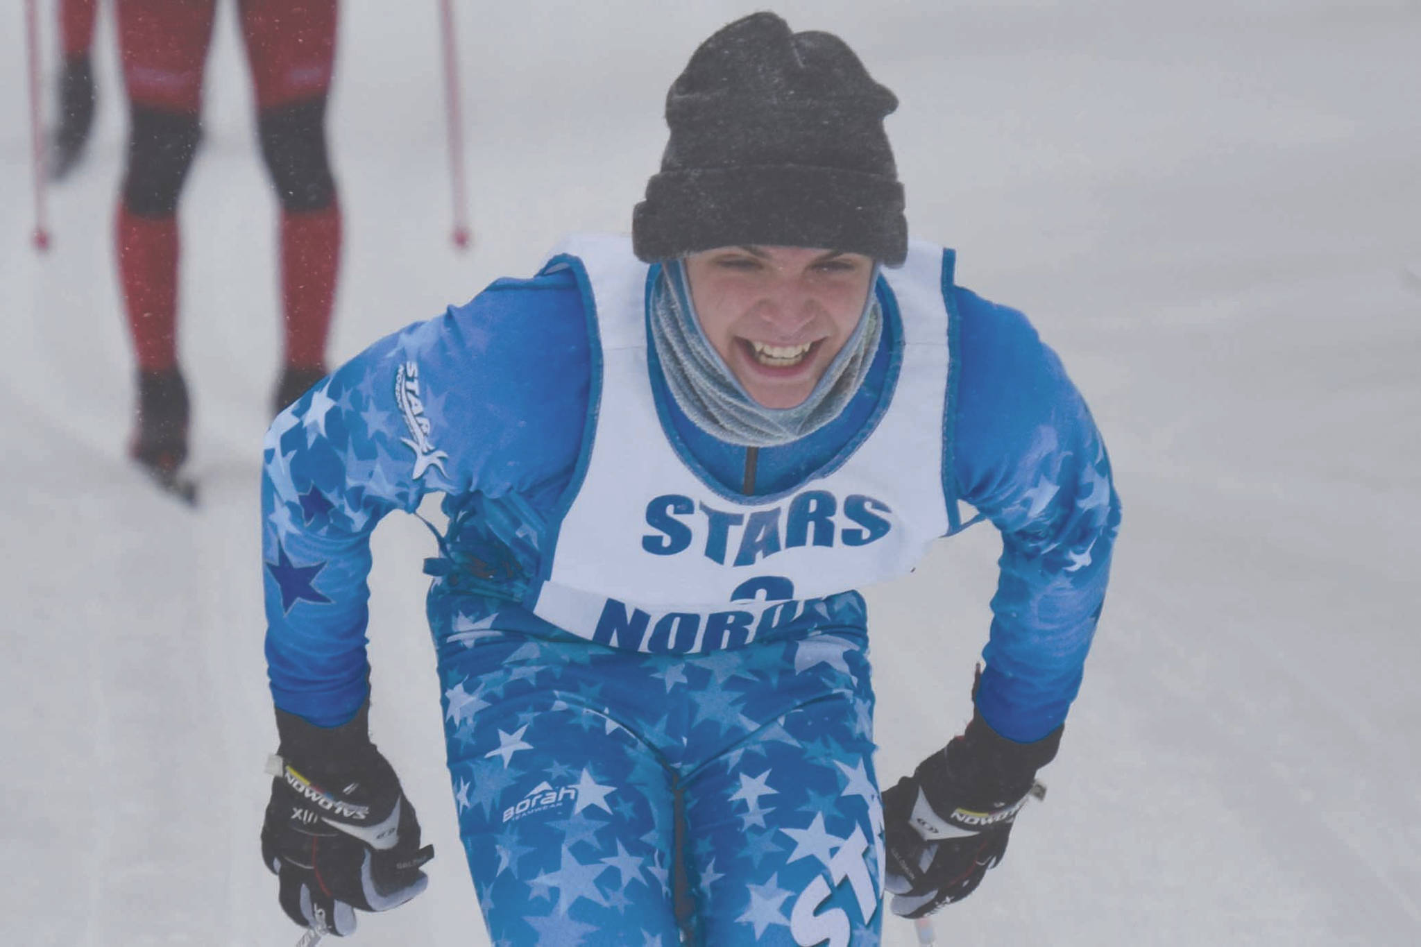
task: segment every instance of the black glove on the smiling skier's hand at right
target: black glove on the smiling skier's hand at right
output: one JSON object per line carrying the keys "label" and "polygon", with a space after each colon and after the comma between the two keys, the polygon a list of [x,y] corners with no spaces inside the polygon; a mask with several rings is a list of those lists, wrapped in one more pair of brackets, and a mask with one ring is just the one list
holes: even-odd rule
{"label": "black glove on the smiling skier's hand at right", "polygon": [[922,917],[959,902],[1006,855],[1012,821],[1056,755],[1057,727],[1036,743],[999,735],[979,716],[946,748],[884,792],[884,889],[892,913]]}

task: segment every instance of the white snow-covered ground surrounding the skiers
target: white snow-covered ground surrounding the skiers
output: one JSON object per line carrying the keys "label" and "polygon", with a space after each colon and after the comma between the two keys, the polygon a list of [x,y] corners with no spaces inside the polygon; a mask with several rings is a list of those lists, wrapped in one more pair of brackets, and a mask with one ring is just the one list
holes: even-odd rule
{"label": "white snow-covered ground surrounding the skiers", "polygon": [[[111,14],[92,150],[51,195],[38,257],[21,4],[4,6],[0,940],[294,943],[257,855],[276,217],[234,4],[182,204],[196,511],[124,460]],[[625,230],[665,88],[722,23],[774,6],[840,31],[902,99],[890,132],[915,233],[958,247],[959,278],[1063,355],[1125,505],[1050,795],[938,916],[939,943],[1421,943],[1421,7],[458,6],[465,256],[448,239],[438,6],[344,7],[337,359],[531,273],[564,230]],[[401,517],[375,547],[375,737],[439,858],[425,896],[364,916],[351,943],[486,944],[422,619],[431,540]],[[966,720],[996,552],[978,527],[871,589],[885,782]],[[890,917],[884,943],[914,943],[911,926]]]}

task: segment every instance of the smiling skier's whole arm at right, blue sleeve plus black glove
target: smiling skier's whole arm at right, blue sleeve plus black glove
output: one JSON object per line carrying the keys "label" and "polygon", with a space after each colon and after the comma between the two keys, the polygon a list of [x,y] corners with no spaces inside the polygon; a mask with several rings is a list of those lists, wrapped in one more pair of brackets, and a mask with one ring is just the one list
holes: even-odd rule
{"label": "smiling skier's whole arm at right, blue sleeve plus black glove", "polygon": [[884,792],[891,907],[921,917],[1002,860],[1060,744],[1106,596],[1120,500],[1096,423],[1020,312],[956,291],[948,500],[1002,532],[966,730]]}

